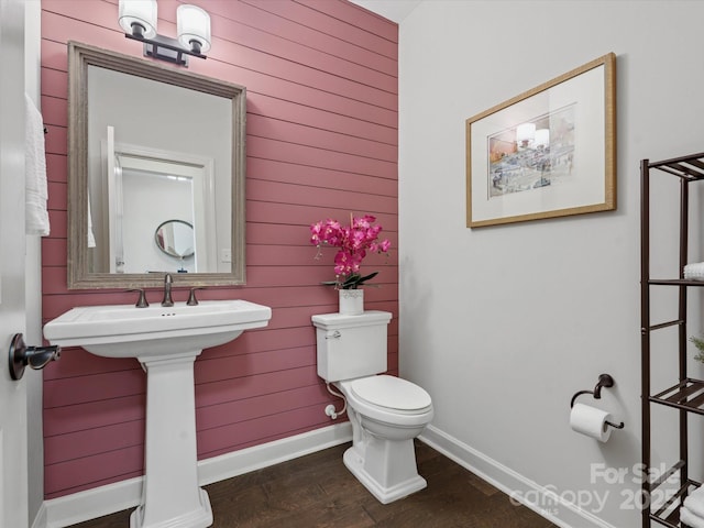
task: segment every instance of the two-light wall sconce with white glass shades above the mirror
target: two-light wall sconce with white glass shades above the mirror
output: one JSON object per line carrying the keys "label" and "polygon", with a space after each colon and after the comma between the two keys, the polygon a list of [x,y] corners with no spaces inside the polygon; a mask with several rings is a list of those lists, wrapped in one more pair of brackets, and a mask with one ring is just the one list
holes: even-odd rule
{"label": "two-light wall sconce with white glass shades above the mirror", "polygon": [[144,43],[144,56],[188,66],[188,57],[206,58],[210,15],[196,6],[176,9],[177,38],[156,33],[156,0],[120,0],[118,22],[127,38]]}

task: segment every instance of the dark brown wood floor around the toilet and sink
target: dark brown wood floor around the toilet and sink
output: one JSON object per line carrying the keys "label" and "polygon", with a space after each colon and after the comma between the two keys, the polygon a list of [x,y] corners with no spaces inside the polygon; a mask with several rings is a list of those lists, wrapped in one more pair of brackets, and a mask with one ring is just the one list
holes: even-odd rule
{"label": "dark brown wood floor around the toilet and sink", "polygon": [[[383,505],[346,470],[338,446],[206,486],[216,528],[549,528],[551,522],[433,449],[416,443],[428,487]],[[75,528],[127,528],[130,513]]]}

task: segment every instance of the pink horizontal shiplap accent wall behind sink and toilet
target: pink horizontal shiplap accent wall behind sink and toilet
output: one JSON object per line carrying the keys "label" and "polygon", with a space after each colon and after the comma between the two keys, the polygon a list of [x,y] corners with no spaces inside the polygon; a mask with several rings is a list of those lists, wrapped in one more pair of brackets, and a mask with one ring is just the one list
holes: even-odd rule
{"label": "pink horizontal shiplap accent wall behind sink and toilet", "polygon": [[[190,70],[248,88],[248,284],[201,293],[268,305],[266,329],[244,332],[196,362],[198,453],[206,459],[331,424],[316,374],[310,316],[337,311],[332,250],[314,260],[308,226],[350,211],[375,215],[394,244],[363,271],[369,309],[394,314],[389,371],[398,366],[396,24],[345,0],[193,0],[212,20],[207,61]],[[178,2],[158,0],[160,33],[175,35]],[[42,109],[52,234],[43,241],[43,318],[133,294],[66,287],[67,47],[128,55],[142,47],[117,23],[118,0],[42,0]],[[148,298],[160,298],[156,289]],[[177,290],[176,300],[186,292]],[[45,495],[139,476],[145,377],[136,361],[66,350],[44,371]]]}

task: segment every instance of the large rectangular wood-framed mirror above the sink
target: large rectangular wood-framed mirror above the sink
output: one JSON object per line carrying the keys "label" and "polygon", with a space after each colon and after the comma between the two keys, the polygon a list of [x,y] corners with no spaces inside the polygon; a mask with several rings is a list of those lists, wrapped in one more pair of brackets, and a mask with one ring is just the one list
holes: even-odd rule
{"label": "large rectangular wood-framed mirror above the sink", "polygon": [[245,88],[75,42],[68,78],[68,288],[244,284]]}

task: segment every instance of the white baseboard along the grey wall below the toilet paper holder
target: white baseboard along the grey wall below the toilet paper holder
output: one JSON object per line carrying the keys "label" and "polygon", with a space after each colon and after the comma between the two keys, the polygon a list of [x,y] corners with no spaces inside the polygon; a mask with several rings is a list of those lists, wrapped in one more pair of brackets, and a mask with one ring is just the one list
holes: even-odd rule
{"label": "white baseboard along the grey wall below the toilet paper holder", "polygon": [[418,438],[553,525],[562,528],[616,528],[590,512],[563,501],[554,490],[526,479],[433,426],[428,426]]}

